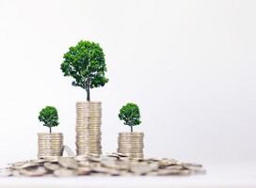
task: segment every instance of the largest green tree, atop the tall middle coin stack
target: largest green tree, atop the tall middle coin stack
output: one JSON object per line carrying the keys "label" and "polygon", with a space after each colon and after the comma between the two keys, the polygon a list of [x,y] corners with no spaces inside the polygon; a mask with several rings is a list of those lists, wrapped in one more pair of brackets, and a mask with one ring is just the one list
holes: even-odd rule
{"label": "largest green tree, atop the tall middle coin stack", "polygon": [[87,101],[90,101],[89,89],[104,86],[108,79],[104,63],[104,51],[98,43],[80,40],[76,46],[70,47],[63,56],[61,71],[64,76],[72,76],[72,86],[81,86],[87,91]]}

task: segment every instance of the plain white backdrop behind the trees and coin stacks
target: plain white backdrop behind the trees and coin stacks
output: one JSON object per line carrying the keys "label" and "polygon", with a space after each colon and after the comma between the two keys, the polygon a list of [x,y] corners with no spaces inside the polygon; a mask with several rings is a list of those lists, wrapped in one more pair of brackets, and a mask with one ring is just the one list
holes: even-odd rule
{"label": "plain white backdrop behind the trees and coin stacks", "polygon": [[104,152],[117,149],[126,102],[140,106],[146,156],[202,164],[255,162],[256,2],[0,0],[0,164],[37,157],[39,120],[55,105],[74,150],[75,102],[60,71],[80,39],[104,48]]}

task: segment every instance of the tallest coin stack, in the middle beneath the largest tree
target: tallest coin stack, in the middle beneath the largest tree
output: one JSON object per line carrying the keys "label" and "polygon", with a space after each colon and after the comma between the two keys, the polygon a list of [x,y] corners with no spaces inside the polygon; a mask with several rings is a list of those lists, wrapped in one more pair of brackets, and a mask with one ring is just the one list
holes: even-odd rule
{"label": "tallest coin stack, in the middle beneath the largest tree", "polygon": [[102,102],[76,102],[76,154],[102,154]]}

